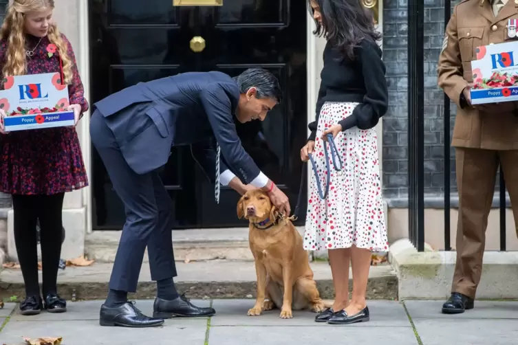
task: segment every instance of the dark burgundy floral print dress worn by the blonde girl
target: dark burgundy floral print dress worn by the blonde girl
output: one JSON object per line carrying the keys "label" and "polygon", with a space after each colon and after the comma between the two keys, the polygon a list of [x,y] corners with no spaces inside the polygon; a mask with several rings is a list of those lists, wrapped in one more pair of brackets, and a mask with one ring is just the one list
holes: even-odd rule
{"label": "dark burgundy floral print dress worn by the blonde girl", "polygon": [[[72,45],[65,35],[62,37],[67,45],[67,54],[74,63],[68,101],[69,104],[80,104],[83,113],[89,107],[84,98],[83,83]],[[28,49],[36,47],[34,55],[27,57],[28,74],[61,71],[59,52],[46,36],[41,41],[27,36],[27,43]],[[6,61],[7,44],[0,41],[0,70]],[[50,195],[85,186],[88,186],[88,178],[75,127],[0,134],[0,192]]]}

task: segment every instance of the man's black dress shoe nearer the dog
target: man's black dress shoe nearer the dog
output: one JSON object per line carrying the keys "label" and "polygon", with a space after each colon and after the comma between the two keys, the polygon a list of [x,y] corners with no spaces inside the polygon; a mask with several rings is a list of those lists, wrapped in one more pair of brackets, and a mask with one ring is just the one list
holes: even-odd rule
{"label": "man's black dress shoe nearer the dog", "polygon": [[157,297],[153,304],[154,318],[204,318],[215,313],[213,308],[196,307],[184,295],[178,296],[174,300],[162,300]]}

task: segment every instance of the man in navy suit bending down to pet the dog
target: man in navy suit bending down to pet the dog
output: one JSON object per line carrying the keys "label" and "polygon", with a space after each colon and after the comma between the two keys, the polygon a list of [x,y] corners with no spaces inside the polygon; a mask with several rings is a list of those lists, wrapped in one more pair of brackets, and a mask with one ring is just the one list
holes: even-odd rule
{"label": "man in navy suit bending down to pet the dog", "polygon": [[[290,214],[288,197],[244,151],[234,122],[263,121],[281,98],[277,78],[264,69],[248,69],[236,78],[211,71],[140,82],[94,104],[91,141],[126,212],[108,298],[100,309],[102,326],[160,326],[164,318],[215,313],[175,289],[171,199],[157,169],[168,161],[171,146],[194,146],[193,153],[201,153],[197,162],[215,177],[217,201],[220,183],[241,194],[262,188],[280,212]],[[203,144],[212,137],[215,145]],[[127,293],[137,289],[146,247],[158,290],[153,318],[127,300]]]}

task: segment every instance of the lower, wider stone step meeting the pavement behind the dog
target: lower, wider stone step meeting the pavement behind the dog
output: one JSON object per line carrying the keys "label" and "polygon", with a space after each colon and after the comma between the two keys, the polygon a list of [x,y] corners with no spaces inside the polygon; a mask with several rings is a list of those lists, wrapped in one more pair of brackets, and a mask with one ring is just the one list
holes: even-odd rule
{"label": "lower, wider stone step meeting the pavement behind the dog", "polygon": [[[311,263],[314,278],[324,299],[334,298],[330,266],[321,261]],[[111,263],[94,263],[87,267],[67,267],[58,274],[58,290],[67,300],[96,300],[106,297]],[[252,298],[255,296],[254,263],[249,261],[210,260],[177,263],[177,289],[189,298]],[[40,282],[41,282],[41,271]],[[352,277],[349,274],[349,277]],[[352,283],[349,283],[349,289]],[[19,269],[0,272],[0,300],[25,296]],[[142,265],[138,291],[133,299],[153,298],[155,282],[151,281],[149,265]],[[372,266],[369,274],[367,298],[393,300],[398,298],[398,279],[389,265]]]}

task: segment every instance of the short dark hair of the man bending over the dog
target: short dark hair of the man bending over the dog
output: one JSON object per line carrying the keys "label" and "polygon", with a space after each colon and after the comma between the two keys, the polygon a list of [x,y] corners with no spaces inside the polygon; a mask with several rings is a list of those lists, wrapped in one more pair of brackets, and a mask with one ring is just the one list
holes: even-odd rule
{"label": "short dark hair of the man bending over the dog", "polygon": [[282,91],[279,80],[262,68],[249,68],[239,76],[234,77],[239,87],[239,93],[246,93],[250,87],[257,89],[257,98],[273,98],[277,102],[282,101]]}

